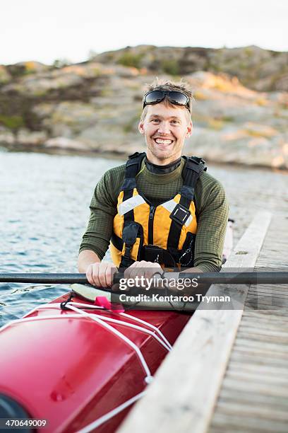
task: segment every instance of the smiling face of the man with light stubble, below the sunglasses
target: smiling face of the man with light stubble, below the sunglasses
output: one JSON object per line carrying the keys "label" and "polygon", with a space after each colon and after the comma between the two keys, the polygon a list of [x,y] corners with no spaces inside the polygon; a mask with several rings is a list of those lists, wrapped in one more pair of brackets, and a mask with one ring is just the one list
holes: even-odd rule
{"label": "smiling face of the man with light stubble, below the sunglasses", "polygon": [[145,120],[138,126],[145,135],[148,161],[164,166],[180,158],[184,140],[193,129],[187,114],[186,108],[177,105],[148,105]]}

